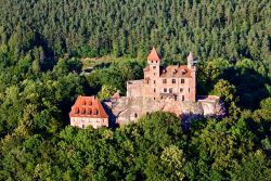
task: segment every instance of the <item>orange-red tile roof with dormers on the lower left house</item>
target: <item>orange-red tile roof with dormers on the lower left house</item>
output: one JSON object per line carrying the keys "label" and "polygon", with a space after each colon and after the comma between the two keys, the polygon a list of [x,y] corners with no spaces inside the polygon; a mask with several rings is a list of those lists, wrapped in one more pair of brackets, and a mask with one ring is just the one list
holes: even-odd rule
{"label": "orange-red tile roof with dormers on the lower left house", "polygon": [[78,96],[69,117],[108,118],[108,115],[95,96]]}

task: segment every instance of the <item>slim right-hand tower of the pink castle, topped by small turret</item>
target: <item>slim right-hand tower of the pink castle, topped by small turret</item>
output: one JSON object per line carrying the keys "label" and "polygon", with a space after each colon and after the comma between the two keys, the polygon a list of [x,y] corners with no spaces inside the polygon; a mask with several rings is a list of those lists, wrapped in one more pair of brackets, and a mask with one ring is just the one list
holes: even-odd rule
{"label": "slim right-hand tower of the pink castle, topped by small turret", "polygon": [[191,70],[191,81],[190,81],[190,100],[192,102],[196,101],[196,64],[197,60],[194,57],[193,53],[190,52],[188,56],[188,68]]}

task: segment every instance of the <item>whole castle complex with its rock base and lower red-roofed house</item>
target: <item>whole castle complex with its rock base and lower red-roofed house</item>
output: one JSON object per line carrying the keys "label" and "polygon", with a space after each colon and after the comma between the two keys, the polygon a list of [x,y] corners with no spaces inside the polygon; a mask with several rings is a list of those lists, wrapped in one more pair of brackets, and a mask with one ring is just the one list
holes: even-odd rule
{"label": "whole castle complex with its rock base and lower red-roofed house", "polygon": [[[144,79],[128,81],[126,96],[116,92],[102,104],[94,96],[79,96],[69,113],[70,125],[115,127],[137,121],[142,115],[156,111],[173,113],[184,121],[203,116],[224,116],[219,96],[196,94],[197,61],[193,53],[188,56],[188,65],[162,66],[160,63],[160,56],[153,48],[143,69]],[[92,103],[87,105],[90,98]]]}

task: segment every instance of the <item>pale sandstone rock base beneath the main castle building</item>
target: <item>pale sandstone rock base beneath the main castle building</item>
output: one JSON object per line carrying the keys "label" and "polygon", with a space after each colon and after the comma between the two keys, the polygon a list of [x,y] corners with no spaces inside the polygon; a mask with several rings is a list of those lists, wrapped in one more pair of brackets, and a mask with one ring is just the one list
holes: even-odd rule
{"label": "pale sandstone rock base beneath the main castle building", "polygon": [[183,120],[199,117],[223,117],[225,108],[219,96],[197,96],[196,102],[180,102],[173,99],[153,100],[143,96],[121,96],[118,100],[105,102],[116,124],[127,125],[137,121],[141,116],[156,112],[169,112],[176,114]]}

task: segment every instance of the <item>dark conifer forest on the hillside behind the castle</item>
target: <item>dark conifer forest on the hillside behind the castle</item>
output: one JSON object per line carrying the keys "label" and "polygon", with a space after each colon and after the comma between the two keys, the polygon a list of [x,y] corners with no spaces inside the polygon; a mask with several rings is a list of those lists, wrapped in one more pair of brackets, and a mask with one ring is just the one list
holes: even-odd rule
{"label": "dark conifer forest on the hillside behind the castle", "polygon": [[270,59],[269,0],[1,0],[0,12],[1,49],[16,53],[39,40],[56,55]]}

